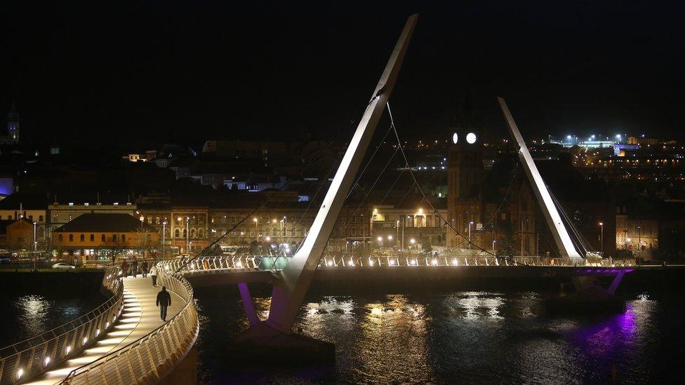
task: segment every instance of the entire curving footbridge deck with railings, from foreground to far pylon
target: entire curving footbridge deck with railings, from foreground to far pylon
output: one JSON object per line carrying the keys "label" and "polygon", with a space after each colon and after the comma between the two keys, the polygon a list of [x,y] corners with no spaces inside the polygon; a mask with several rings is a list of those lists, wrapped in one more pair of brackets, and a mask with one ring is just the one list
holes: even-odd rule
{"label": "entire curving footbridge deck with railings, from foreground to far pylon", "polygon": [[[192,349],[199,320],[189,283],[215,285],[270,282],[290,257],[214,256],[157,262],[157,287],[151,278],[122,278],[119,266],[107,266],[102,292],[107,301],[90,313],[42,335],[0,349],[2,384],[133,384],[167,378]],[[326,279],[350,276],[454,277],[464,271],[508,276],[559,273],[616,275],[634,262],[583,264],[538,257],[325,255],[317,271]],[[359,275],[358,275],[359,276]],[[458,276],[458,275],[457,275]],[[161,285],[172,293],[166,323],[155,304]]]}

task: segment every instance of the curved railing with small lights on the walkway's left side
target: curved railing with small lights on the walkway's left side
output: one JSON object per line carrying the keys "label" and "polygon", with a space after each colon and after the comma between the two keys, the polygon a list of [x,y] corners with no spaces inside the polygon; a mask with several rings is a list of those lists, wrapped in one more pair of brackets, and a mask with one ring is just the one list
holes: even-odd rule
{"label": "curved railing with small lights on the walkway's left side", "polygon": [[0,383],[15,384],[77,356],[114,327],[124,309],[118,266],[106,266],[100,290],[107,300],[92,311],[22,342],[0,349]]}

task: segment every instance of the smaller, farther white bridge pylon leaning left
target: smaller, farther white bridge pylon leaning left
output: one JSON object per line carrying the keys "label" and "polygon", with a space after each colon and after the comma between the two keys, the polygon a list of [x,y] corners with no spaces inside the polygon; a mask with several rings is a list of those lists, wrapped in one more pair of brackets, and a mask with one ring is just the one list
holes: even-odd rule
{"label": "smaller, farther white bridge pylon leaning left", "polygon": [[554,242],[557,243],[557,248],[559,248],[559,254],[561,254],[561,257],[583,259],[580,253],[578,253],[578,250],[576,250],[576,246],[573,245],[573,241],[571,241],[571,236],[568,234],[568,229],[564,226],[564,222],[561,222],[559,210],[557,210],[557,206],[554,205],[554,201],[552,201],[550,191],[547,190],[545,181],[543,180],[542,175],[540,175],[540,171],[538,171],[538,168],[533,161],[533,157],[531,156],[530,151],[528,151],[528,147],[526,147],[526,142],[524,142],[524,138],[519,132],[519,128],[512,117],[512,113],[509,111],[509,107],[507,107],[507,102],[501,97],[498,97],[497,101],[499,102],[504,118],[507,121],[509,132],[519,145],[519,159],[524,166],[524,170],[526,170],[526,175],[531,182],[533,193],[535,194],[538,203],[540,203],[540,208],[542,208],[545,220],[550,226]]}

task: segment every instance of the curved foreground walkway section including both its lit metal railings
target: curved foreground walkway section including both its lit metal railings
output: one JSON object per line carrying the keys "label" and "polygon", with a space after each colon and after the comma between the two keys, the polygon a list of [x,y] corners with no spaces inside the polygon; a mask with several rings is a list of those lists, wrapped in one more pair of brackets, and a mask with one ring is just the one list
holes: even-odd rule
{"label": "curved foreground walkway section including both its lit metal railings", "polygon": [[[1,384],[134,384],[164,379],[192,348],[199,330],[190,284],[159,265],[152,278],[121,278],[105,267],[105,303],[65,325],[0,349]],[[157,293],[171,293],[167,321]]]}

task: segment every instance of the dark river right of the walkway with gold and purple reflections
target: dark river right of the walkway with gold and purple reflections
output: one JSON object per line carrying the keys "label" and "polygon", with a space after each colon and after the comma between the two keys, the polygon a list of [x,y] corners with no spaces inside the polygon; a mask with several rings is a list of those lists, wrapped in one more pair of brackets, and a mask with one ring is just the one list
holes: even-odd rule
{"label": "dark river right of the walkway with gold and purple reflections", "polygon": [[[321,296],[302,306],[296,327],[335,344],[333,374],[247,368],[222,357],[247,327],[237,296],[196,294],[204,383],[580,384],[608,381],[611,365],[620,381],[644,382],[667,378],[684,342],[682,300],[665,306],[649,295],[630,300],[624,314],[588,318],[545,316],[537,292]],[[269,303],[256,301],[260,314]],[[665,342],[667,332],[679,343]]]}

